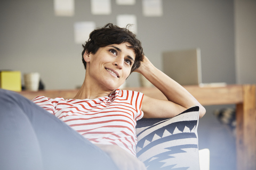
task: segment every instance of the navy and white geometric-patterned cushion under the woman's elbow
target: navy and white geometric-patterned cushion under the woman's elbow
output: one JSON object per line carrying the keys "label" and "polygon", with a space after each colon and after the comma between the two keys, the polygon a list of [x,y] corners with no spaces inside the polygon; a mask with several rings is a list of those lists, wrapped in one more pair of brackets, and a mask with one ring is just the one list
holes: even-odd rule
{"label": "navy and white geometric-patterned cushion under the woman's elbow", "polygon": [[148,170],[199,169],[198,118],[199,107],[194,106],[173,118],[138,121],[138,159]]}

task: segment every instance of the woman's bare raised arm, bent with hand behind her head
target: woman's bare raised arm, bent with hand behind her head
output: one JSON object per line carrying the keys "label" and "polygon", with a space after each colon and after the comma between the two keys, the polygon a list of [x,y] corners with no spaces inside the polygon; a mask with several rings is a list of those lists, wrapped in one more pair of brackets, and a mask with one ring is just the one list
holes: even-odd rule
{"label": "woman's bare raised arm, bent with hand behind her head", "polygon": [[205,108],[185,88],[158,70],[146,56],[135,72],[141,73],[168,99],[159,100],[145,95],[142,100],[145,118],[173,117],[195,105],[200,107],[200,118],[205,114]]}

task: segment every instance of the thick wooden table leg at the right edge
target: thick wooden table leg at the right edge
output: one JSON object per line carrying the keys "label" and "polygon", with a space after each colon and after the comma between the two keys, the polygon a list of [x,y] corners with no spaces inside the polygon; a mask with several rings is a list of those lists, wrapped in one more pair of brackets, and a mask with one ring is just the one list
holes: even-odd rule
{"label": "thick wooden table leg at the right edge", "polygon": [[243,104],[237,105],[237,169],[256,169],[256,99],[255,86],[243,86]]}

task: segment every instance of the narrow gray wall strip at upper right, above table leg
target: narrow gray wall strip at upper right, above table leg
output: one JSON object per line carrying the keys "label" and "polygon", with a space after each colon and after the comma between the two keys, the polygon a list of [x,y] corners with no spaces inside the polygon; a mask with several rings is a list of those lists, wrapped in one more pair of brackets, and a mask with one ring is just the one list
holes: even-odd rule
{"label": "narrow gray wall strip at upper right, above table leg", "polygon": [[235,0],[237,83],[256,84],[256,1]]}

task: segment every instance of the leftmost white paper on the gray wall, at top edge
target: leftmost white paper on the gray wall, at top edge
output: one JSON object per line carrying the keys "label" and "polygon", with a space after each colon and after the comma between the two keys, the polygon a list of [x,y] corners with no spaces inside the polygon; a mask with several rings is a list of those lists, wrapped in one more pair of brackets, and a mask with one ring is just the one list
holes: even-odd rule
{"label": "leftmost white paper on the gray wall, at top edge", "polygon": [[73,16],[74,0],[54,0],[54,13],[57,16]]}

